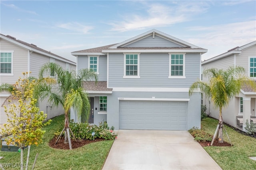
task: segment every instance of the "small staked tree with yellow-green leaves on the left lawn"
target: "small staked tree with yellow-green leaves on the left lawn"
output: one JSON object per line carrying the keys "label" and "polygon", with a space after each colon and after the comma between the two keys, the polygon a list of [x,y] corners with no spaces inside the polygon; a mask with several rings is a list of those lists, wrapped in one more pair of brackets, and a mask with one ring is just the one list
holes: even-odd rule
{"label": "small staked tree with yellow-green leaves on the left lawn", "polygon": [[[29,79],[28,73],[22,73],[23,78],[13,85],[11,96],[8,99],[8,105],[4,106],[8,117],[7,123],[2,128],[2,134],[6,137],[7,144],[14,144],[20,148],[20,163],[23,165],[23,150],[28,146],[28,156],[30,145],[38,146],[42,143],[42,137],[45,130],[42,127],[49,125],[50,121],[43,123],[46,119],[46,114],[36,107],[37,100],[33,98],[34,87],[37,85],[35,79]],[[28,166],[26,166],[26,169]],[[21,170],[23,166],[21,166]]]}

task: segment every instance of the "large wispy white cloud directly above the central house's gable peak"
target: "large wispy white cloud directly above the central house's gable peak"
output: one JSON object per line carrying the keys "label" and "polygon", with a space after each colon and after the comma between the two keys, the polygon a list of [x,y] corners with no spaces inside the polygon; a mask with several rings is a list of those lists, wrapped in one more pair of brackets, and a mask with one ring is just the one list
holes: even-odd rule
{"label": "large wispy white cloud directly above the central house's gable peak", "polygon": [[148,27],[162,27],[190,20],[194,15],[207,11],[208,4],[200,2],[178,2],[172,4],[145,3],[146,14],[126,14],[122,21],[113,21],[109,25],[112,31],[124,32]]}

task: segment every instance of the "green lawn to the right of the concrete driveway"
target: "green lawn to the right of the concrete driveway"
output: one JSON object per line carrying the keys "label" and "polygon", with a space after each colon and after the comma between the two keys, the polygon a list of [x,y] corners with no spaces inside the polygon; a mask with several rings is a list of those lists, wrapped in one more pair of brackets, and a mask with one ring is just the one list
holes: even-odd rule
{"label": "green lawn to the right of the concrete driveway", "polygon": [[[214,134],[218,121],[206,118],[201,121],[201,128]],[[256,157],[256,138],[240,134],[228,126],[224,126],[234,146],[204,147],[206,152],[217,162],[223,170],[256,170],[256,161],[249,157]],[[224,140],[229,142],[225,130]]]}

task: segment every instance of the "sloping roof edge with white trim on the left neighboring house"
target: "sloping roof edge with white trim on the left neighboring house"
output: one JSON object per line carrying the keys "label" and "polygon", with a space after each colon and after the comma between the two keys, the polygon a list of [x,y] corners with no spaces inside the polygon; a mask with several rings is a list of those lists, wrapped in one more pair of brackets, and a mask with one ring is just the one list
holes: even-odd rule
{"label": "sloping roof edge with white trim on the left neighboring house", "polygon": [[62,61],[65,61],[67,63],[71,63],[71,64],[74,64],[76,65],[75,62],[69,60],[69,59],[66,59],[64,57],[61,57],[59,55],[56,55],[54,53],[51,53],[50,51],[46,51],[45,49],[42,49],[40,47],[37,47],[36,45],[32,44],[32,43],[27,43],[27,42],[24,42],[22,40],[16,40],[15,37],[12,37],[12,36],[5,36],[4,34],[0,34],[0,38],[10,42],[10,43],[14,43],[20,47],[23,47],[25,49],[28,49],[30,51],[33,51],[33,52],[36,52],[36,53],[40,53],[42,55],[46,55],[48,57],[53,57],[53,58],[56,58],[56,59],[59,59],[59,60],[62,60]]}

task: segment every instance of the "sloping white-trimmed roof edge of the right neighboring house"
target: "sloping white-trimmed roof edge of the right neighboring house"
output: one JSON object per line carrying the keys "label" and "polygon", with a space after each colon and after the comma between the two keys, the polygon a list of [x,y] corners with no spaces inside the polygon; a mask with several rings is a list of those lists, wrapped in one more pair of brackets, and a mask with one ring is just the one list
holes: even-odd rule
{"label": "sloping white-trimmed roof edge of the right neighboring house", "polygon": [[241,47],[234,47],[234,48],[228,50],[228,51],[225,52],[225,53],[222,53],[222,54],[220,54],[220,55],[217,55],[217,56],[215,56],[215,57],[212,57],[212,58],[210,58],[210,59],[207,59],[207,60],[205,60],[205,61],[202,61],[202,65],[204,65],[204,64],[206,64],[206,63],[209,63],[209,62],[212,62],[212,61],[215,61],[215,60],[218,60],[218,59],[221,59],[221,58],[223,58],[223,57],[227,57],[227,56],[232,55],[232,54],[240,54],[240,53],[242,53],[242,51],[243,51],[244,49],[250,48],[250,47],[252,47],[253,45],[256,45],[256,41],[247,43],[247,44],[245,44],[245,45],[242,45]]}

